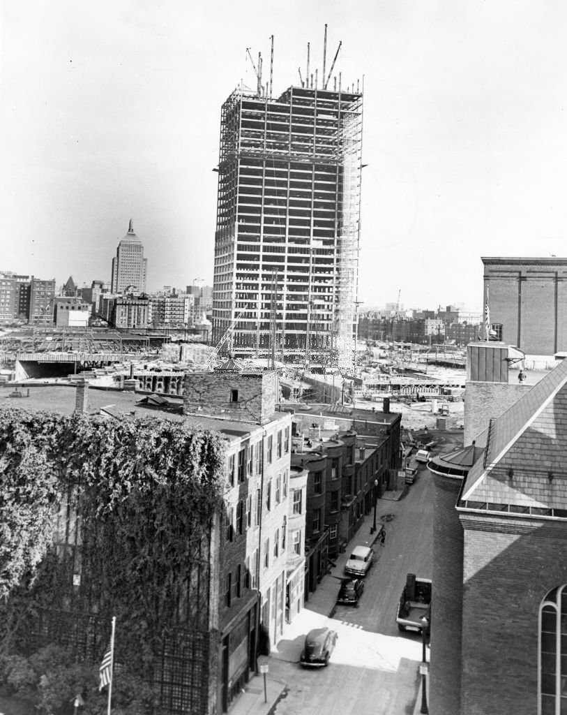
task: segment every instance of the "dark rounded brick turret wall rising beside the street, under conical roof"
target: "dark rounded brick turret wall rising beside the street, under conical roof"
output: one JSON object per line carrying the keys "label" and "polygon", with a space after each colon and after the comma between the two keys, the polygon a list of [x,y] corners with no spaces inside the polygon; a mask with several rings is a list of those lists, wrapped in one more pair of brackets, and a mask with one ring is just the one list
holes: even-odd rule
{"label": "dark rounded brick turret wall rising beside the street, under conical roof", "polygon": [[433,598],[430,711],[458,715],[461,702],[463,527],[455,508],[461,479],[433,474]]}

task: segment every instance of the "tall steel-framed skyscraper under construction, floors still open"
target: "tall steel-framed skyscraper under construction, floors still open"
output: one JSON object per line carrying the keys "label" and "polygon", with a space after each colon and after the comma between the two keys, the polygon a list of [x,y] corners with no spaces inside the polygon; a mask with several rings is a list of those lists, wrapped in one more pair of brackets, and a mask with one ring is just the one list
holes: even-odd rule
{"label": "tall steel-framed skyscraper under construction, floors still open", "polygon": [[237,89],[221,110],[213,342],[351,370],[362,93],[264,91]]}

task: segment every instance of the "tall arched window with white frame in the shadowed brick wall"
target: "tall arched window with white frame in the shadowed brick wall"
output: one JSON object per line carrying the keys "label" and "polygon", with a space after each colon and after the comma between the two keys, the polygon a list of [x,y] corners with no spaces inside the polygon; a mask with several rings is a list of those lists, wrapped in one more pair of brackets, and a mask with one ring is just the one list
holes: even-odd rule
{"label": "tall arched window with white frame in the shadowed brick wall", "polygon": [[567,712],[567,585],[553,588],[539,608],[538,715]]}

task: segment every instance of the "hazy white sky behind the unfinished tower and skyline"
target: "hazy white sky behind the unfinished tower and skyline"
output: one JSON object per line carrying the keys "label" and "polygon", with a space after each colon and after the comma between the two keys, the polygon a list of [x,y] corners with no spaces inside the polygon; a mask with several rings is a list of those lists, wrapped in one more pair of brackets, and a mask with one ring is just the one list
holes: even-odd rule
{"label": "hazy white sky behind the unfinished tower and skyline", "polygon": [[[565,255],[567,4],[0,0],[0,270],[212,282],[221,104],[298,66],[364,75],[359,298],[480,310],[481,255]],[[363,307],[365,307],[363,306]]]}

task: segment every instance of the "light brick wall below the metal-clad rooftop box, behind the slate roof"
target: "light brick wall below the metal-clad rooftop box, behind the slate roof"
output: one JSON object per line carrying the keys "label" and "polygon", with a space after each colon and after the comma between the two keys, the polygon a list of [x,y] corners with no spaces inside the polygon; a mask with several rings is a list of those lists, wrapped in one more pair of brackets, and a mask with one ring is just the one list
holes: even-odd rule
{"label": "light brick wall below the metal-clad rooftop box, behind the slate roof", "polygon": [[[470,445],[488,427],[491,417],[500,417],[517,402],[531,385],[508,385],[508,383],[481,383],[472,380],[465,390],[464,445]],[[478,443],[479,446],[484,446]]]}

